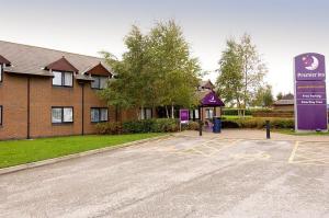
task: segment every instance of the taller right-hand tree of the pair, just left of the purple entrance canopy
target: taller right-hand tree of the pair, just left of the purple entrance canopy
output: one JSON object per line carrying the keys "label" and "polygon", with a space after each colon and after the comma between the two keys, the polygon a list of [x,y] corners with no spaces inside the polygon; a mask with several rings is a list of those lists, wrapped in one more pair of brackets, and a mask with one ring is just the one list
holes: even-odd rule
{"label": "taller right-hand tree of the pair, just left of the purple entrance canopy", "polygon": [[190,46],[174,21],[159,22],[149,34],[151,69],[157,74],[159,104],[191,107],[196,104],[195,88],[201,71],[198,61],[191,57]]}

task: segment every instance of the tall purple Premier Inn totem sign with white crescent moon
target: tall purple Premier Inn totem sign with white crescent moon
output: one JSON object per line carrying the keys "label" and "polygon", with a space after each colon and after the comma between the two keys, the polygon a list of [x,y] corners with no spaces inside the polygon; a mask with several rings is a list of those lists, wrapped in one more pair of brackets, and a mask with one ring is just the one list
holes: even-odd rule
{"label": "tall purple Premier Inn totem sign with white crescent moon", "polygon": [[328,129],[324,55],[308,53],[295,57],[295,129]]}

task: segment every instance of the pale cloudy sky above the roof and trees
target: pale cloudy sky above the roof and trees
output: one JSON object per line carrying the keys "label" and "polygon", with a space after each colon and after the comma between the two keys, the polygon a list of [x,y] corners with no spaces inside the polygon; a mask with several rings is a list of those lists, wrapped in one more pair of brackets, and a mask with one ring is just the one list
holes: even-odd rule
{"label": "pale cloudy sky above the roof and trees", "polygon": [[[132,25],[147,33],[174,19],[205,79],[216,80],[228,38],[252,37],[269,68],[274,94],[294,90],[293,58],[329,56],[328,0],[10,0],[2,2],[0,41],[83,55],[107,50],[121,57]],[[0,50],[1,53],[1,50]],[[328,62],[328,61],[327,61]]]}

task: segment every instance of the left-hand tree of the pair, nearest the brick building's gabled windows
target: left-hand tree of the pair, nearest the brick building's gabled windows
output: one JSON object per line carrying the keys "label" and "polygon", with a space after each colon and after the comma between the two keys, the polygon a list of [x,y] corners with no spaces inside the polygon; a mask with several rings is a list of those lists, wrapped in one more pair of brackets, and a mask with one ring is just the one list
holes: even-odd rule
{"label": "left-hand tree of the pair, nearest the brick building's gabled windows", "polygon": [[136,113],[138,113],[139,107],[154,104],[150,95],[154,90],[155,77],[147,66],[150,61],[147,37],[137,26],[133,26],[125,37],[125,45],[127,51],[121,61],[110,53],[102,51],[116,76],[100,95],[110,105],[120,108],[136,108]]}

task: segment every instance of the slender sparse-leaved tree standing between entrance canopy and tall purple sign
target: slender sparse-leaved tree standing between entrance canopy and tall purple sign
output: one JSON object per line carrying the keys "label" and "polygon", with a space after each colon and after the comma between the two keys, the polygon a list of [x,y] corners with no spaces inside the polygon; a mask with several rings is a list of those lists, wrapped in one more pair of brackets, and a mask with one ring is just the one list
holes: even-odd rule
{"label": "slender sparse-leaved tree standing between entrance canopy and tall purple sign", "polygon": [[226,102],[236,103],[238,108],[252,104],[258,90],[263,87],[266,67],[257,51],[251,37],[245,34],[240,42],[227,42],[227,49],[219,60],[217,87]]}

